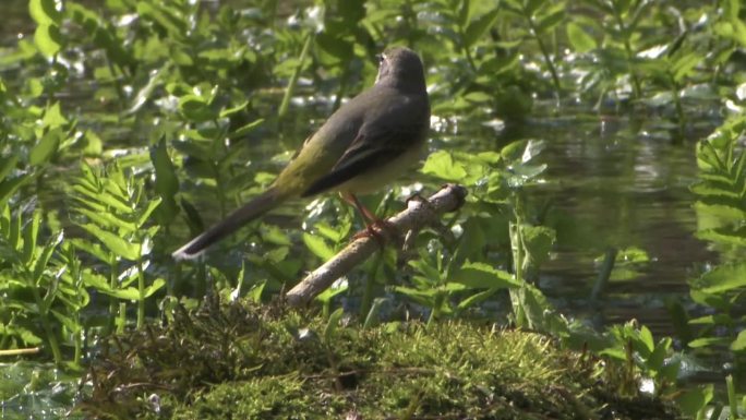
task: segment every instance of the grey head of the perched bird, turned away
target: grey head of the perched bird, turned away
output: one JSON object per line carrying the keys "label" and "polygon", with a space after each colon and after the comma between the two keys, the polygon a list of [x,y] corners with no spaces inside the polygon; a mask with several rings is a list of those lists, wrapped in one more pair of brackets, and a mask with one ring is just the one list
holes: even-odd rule
{"label": "grey head of the perched bird, turned away", "polygon": [[424,71],[420,57],[409,48],[394,47],[380,56],[378,85],[396,86],[411,92],[424,92]]}

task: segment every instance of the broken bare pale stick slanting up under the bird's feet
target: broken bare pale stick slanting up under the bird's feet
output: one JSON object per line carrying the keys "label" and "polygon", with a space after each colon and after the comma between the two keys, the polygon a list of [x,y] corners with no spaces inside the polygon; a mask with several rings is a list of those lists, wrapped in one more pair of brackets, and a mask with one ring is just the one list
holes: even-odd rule
{"label": "broken bare pale stick slanting up under the bird's feet", "polygon": [[[454,212],[464,204],[467,190],[461,185],[445,184],[433,194],[426,203],[410,200],[407,209],[386,220],[386,225],[399,232],[419,231],[443,213]],[[382,235],[381,237],[384,237]],[[380,240],[364,236],[350,242],[332,260],[305,276],[287,295],[287,302],[292,307],[309,303],[314,297],[326,290],[339,277],[349,273],[381,248]]]}

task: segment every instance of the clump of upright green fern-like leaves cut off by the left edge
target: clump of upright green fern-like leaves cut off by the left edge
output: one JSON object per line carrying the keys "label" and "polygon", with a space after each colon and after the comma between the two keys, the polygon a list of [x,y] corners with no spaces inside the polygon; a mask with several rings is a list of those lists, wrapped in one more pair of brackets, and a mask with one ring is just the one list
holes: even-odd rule
{"label": "clump of upright green fern-like leaves cut off by the left edge", "polygon": [[[63,361],[62,343],[74,341],[80,360],[82,328],[80,311],[88,304],[82,287],[80,262],[69,244],[58,252],[62,233],[46,242],[39,235],[41,215],[35,212],[23,223],[22,215],[3,207],[0,226],[0,344],[2,348],[39,345],[49,348],[57,363]],[[61,253],[62,255],[57,255]],[[69,272],[69,269],[71,272]]]}

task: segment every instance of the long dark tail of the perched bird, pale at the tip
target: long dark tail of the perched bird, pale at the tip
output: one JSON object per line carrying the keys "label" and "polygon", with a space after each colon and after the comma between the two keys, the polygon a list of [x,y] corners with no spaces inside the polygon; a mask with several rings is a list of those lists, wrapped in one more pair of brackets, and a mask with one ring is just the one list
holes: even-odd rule
{"label": "long dark tail of the perched bird, pale at the tip", "polygon": [[176,260],[188,260],[197,256],[202,251],[220,239],[238,230],[241,226],[257,218],[285,201],[284,194],[274,188],[265,191],[254,200],[234,211],[217,225],[202,232],[185,245],[176,250],[171,256]]}

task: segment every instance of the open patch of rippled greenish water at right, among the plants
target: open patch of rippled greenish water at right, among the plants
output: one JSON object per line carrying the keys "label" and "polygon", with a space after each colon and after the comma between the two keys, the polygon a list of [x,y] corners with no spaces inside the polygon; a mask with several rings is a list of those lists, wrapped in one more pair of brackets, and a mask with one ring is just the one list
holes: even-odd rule
{"label": "open patch of rippled greenish water at right, among the plants", "polygon": [[[566,121],[534,121],[517,135],[546,141],[540,160],[549,166],[549,183],[532,197],[551,203],[544,223],[557,230],[557,243],[543,267],[542,289],[570,313],[600,311],[591,314],[605,323],[635,317],[671,334],[664,300],[688,295],[686,278],[696,264],[715,257],[694,238],[688,190],[697,173],[695,142],[705,133],[674,143],[651,134],[647,125],[654,120]],[[594,259],[629,247],[646,251],[650,262],[631,275],[613,275],[603,305],[589,308]]]}

